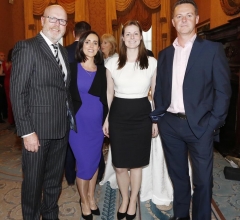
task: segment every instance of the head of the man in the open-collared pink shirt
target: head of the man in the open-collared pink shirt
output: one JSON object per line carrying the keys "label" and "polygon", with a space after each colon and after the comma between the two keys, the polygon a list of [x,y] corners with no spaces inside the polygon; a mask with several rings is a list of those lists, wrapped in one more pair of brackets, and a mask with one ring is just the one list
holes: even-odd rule
{"label": "head of the man in the open-collared pink shirt", "polygon": [[195,26],[198,20],[199,16],[196,15],[195,8],[192,4],[181,4],[174,10],[172,24],[178,36],[192,37],[195,34]]}

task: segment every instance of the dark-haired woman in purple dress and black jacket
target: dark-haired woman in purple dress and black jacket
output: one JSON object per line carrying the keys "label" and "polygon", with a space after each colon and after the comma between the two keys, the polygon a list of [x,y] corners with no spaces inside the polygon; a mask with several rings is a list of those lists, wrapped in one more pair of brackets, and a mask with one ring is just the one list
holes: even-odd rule
{"label": "dark-haired woman in purple dress and black jacket", "polygon": [[78,42],[75,63],[70,64],[72,96],[77,133],[70,131],[69,144],[76,158],[77,187],[82,217],[100,215],[94,199],[104,134],[102,124],[108,112],[106,69],[102,64],[100,38],[84,32]]}

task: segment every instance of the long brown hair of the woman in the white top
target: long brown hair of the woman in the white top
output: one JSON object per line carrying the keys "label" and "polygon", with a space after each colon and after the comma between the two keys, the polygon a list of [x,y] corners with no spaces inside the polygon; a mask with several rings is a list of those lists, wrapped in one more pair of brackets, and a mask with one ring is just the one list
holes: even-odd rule
{"label": "long brown hair of the woman in the white top", "polygon": [[[120,47],[119,47],[119,59],[118,59],[118,69],[122,69],[126,62],[127,62],[127,47],[123,41],[125,29],[128,26],[135,25],[138,27],[140,35],[142,36],[142,28],[141,25],[138,23],[138,21],[130,20],[127,21],[122,28],[122,36],[120,40]],[[148,57],[147,57],[147,50],[143,42],[143,38],[140,41],[140,44],[138,46],[138,57],[136,62],[138,63],[140,69],[147,69],[148,68]]]}

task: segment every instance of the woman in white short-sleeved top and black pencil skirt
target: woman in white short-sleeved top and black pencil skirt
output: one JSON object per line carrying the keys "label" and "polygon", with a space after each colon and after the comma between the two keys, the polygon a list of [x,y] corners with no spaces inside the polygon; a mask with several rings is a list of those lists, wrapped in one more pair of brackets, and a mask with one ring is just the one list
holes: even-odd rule
{"label": "woman in white short-sleeved top and black pencil skirt", "polygon": [[151,138],[158,134],[157,125],[149,118],[151,104],[147,97],[150,87],[154,94],[156,67],[156,59],[147,56],[140,24],[128,21],[122,29],[119,59],[114,57],[106,64],[110,113],[103,131],[110,137],[112,163],[122,195],[118,219],[136,217],[142,167],[149,163]]}

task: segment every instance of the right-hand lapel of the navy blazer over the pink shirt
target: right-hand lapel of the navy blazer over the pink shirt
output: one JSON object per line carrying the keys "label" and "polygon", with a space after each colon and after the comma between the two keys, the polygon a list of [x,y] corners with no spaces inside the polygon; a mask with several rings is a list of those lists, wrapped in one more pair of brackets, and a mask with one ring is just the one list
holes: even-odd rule
{"label": "right-hand lapel of the navy blazer over the pink shirt", "polygon": [[189,59],[188,59],[188,64],[187,64],[185,75],[188,74],[188,72],[191,69],[191,67],[193,66],[193,64],[195,62],[197,62],[199,53],[202,50],[202,42],[203,42],[203,40],[200,37],[196,37],[196,39],[193,43],[193,47],[192,47]]}

